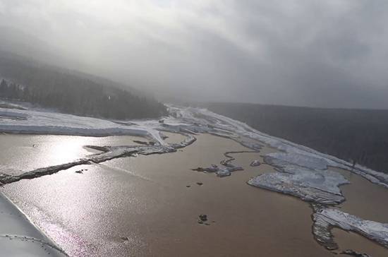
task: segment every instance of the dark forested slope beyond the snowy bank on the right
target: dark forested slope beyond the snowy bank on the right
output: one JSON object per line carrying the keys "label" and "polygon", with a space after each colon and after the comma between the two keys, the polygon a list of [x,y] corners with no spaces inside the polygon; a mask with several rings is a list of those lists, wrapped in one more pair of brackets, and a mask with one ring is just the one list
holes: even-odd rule
{"label": "dark forested slope beyond the snowy bank on the right", "polygon": [[206,106],[272,136],[388,173],[388,110],[231,103]]}

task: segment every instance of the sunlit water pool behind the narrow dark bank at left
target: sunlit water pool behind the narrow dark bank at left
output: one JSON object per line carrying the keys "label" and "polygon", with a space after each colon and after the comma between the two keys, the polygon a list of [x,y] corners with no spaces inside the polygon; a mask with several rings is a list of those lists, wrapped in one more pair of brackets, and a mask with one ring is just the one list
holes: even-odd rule
{"label": "sunlit water pool behind the narrow dark bank at left", "polygon": [[133,145],[135,136],[42,136],[0,135],[0,172],[16,169],[23,172],[78,160],[93,152],[84,145]]}

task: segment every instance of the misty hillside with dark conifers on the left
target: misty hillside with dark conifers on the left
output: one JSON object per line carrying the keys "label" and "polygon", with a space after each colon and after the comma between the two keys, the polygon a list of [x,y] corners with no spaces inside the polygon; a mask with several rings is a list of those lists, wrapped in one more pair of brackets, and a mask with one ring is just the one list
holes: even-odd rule
{"label": "misty hillside with dark conifers on the left", "polygon": [[154,118],[166,114],[163,104],[134,95],[90,76],[0,55],[0,97],[37,104],[59,112],[107,119]]}

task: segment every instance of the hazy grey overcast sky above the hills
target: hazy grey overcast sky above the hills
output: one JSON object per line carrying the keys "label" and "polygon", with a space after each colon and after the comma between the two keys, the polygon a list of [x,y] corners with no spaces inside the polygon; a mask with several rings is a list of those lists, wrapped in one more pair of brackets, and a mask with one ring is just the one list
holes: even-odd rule
{"label": "hazy grey overcast sky above the hills", "polygon": [[0,24],[157,95],[388,108],[387,0],[0,0]]}

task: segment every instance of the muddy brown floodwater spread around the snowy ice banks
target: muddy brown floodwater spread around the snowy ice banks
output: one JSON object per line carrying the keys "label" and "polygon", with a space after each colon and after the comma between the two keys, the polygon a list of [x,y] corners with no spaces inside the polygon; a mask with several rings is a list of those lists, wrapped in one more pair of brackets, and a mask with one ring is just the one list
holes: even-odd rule
{"label": "muddy brown floodwater spread around the snowy ice banks", "polygon": [[[182,139],[166,134],[169,142]],[[334,256],[313,239],[308,203],[246,184],[250,177],[274,172],[250,162],[276,150],[234,154],[244,170],[219,178],[191,169],[218,165],[226,151],[250,149],[226,138],[197,138],[176,153],[73,167],[1,191],[70,256]],[[2,135],[0,164],[28,171],[92,154],[83,145],[133,140],[144,139]],[[76,173],[80,169],[83,173]],[[388,189],[345,175],[352,176],[352,184],[341,186],[348,198],[341,210],[388,222]],[[208,225],[198,223],[200,214],[207,215]],[[388,255],[357,234],[335,229],[334,235],[341,250]]]}

